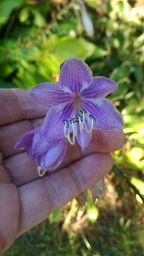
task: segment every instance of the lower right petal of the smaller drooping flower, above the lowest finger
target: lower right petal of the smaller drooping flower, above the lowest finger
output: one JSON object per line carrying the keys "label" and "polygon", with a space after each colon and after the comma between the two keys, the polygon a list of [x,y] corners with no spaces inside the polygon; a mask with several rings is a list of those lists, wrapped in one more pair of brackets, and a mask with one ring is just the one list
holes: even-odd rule
{"label": "lower right petal of the smaller drooping flower, above the lowest finger", "polygon": [[41,166],[43,170],[55,170],[59,164],[62,163],[67,150],[66,139],[55,141],[53,147],[48,150],[46,154],[43,154],[37,158],[38,166]]}

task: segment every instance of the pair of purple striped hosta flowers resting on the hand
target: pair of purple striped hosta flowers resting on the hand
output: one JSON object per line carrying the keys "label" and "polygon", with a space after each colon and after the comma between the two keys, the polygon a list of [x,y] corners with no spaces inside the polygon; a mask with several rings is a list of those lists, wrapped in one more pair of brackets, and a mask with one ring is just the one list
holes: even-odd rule
{"label": "pair of purple striped hosta flowers resting on the hand", "polygon": [[[61,65],[59,83],[42,83],[32,88],[32,99],[49,108],[40,132],[36,130],[31,135],[31,145],[40,144],[37,145],[40,147],[40,157],[37,157],[38,147],[34,150],[33,146],[30,147],[35,152],[39,170],[40,166],[41,170],[48,170],[49,167],[54,169],[61,163],[66,153],[66,141],[71,145],[77,141],[85,149],[93,129],[122,128],[123,120],[119,111],[112,102],[104,99],[115,90],[117,83],[106,77],[92,77],[88,65],[77,58],[69,58]],[[24,135],[22,140],[27,140],[27,136]],[[54,149],[55,141],[59,141],[59,153]],[[23,144],[23,147],[29,152],[27,145]],[[51,148],[53,153],[55,150],[55,156],[50,155]],[[57,154],[61,157],[55,162]],[[29,156],[32,157],[32,153]],[[52,161],[52,158],[53,166],[49,166],[48,161]]]}

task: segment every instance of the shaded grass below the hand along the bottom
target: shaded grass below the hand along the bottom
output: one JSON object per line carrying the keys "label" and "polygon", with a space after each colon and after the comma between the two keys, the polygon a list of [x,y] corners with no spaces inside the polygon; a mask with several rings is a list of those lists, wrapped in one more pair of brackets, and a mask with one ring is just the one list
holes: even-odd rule
{"label": "shaded grass below the hand along the bottom", "polygon": [[99,218],[94,223],[88,220],[85,211],[78,218],[80,210],[76,206],[66,231],[62,232],[69,203],[18,237],[4,256],[143,256],[143,208],[134,206],[135,196],[131,193],[112,202],[114,197],[107,193],[103,205],[97,206]]}

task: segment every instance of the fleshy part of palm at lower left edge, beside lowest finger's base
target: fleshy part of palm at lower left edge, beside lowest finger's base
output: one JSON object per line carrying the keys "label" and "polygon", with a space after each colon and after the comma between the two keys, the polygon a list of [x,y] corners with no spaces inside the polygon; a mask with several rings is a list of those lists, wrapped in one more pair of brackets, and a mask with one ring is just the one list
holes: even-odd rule
{"label": "fleshy part of palm at lower left edge, beside lowest finger's base", "polygon": [[[7,182],[6,182],[7,183]],[[1,236],[0,254],[10,247],[17,236],[20,212],[18,191],[15,184],[0,184]]]}

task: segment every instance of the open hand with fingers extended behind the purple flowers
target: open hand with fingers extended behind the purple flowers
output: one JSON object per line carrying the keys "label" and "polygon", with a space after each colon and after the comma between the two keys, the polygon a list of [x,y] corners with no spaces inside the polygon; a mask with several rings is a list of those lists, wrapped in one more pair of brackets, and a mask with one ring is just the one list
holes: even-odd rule
{"label": "open hand with fingers extended behind the purple flowers", "polygon": [[[15,150],[18,138],[43,123],[41,108],[20,89],[0,90],[0,252],[15,238],[41,223],[47,216],[112,169],[110,152],[124,143],[122,131],[93,131],[85,150],[68,145],[59,172],[38,177],[36,163],[24,151]],[[58,170],[58,169],[57,169]]]}

